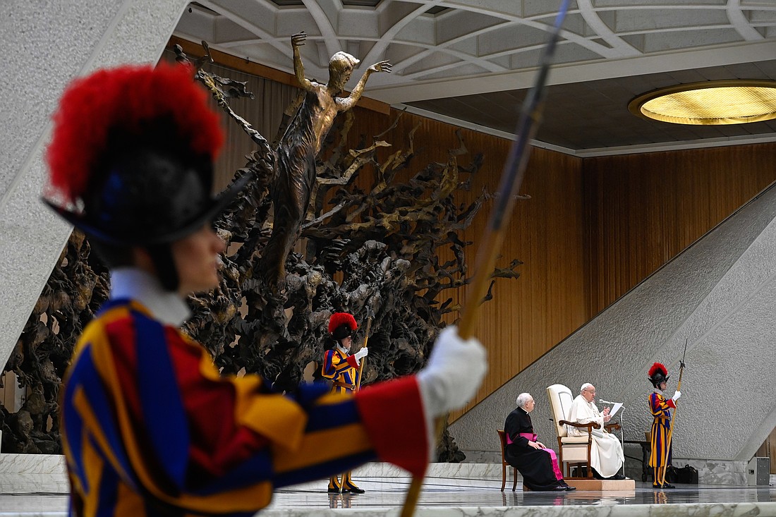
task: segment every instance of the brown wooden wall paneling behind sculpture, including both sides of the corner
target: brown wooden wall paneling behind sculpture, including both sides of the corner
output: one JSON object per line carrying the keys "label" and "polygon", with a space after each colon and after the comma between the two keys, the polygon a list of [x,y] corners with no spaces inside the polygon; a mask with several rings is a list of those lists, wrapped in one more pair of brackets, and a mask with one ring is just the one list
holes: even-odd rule
{"label": "brown wooden wall paneling behind sculpture, including both sides of the corner", "polygon": [[[379,134],[392,120],[359,113],[351,137]],[[407,176],[429,161],[444,161],[447,149],[458,146],[455,127],[404,114],[383,137],[394,147],[381,154],[404,145],[416,123],[421,127]],[[511,142],[469,130],[461,134],[469,151],[485,158],[471,193],[459,193],[464,203],[482,186],[490,192],[497,188]],[[534,149],[521,191],[532,197],[516,203],[497,263],[504,267],[518,258],[525,264],[518,269],[519,279],[497,281],[494,300],[480,309],[475,334],[487,346],[490,371],[469,407],[767,186],[772,150],[722,147],[582,161]],[[469,159],[459,157],[459,164]],[[742,163],[749,171],[744,177]],[[464,234],[474,241],[466,252],[469,268],[489,210],[490,204],[483,206]],[[465,291],[445,293],[445,298],[463,304]],[[466,409],[452,414],[451,421]]]}

